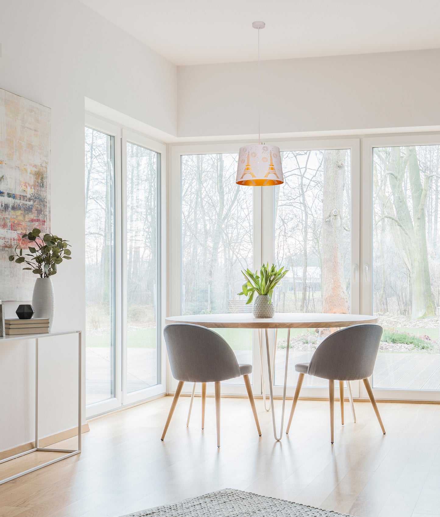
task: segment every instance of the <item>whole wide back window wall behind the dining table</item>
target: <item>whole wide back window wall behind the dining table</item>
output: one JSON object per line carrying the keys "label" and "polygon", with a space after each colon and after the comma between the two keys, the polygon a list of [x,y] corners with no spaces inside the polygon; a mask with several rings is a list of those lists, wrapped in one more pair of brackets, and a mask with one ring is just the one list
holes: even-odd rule
{"label": "whole wide back window wall behind the dining table", "polygon": [[[173,147],[170,313],[250,310],[236,294],[240,269],[273,261],[289,270],[275,291],[277,312],[377,316],[384,328],[372,378],[378,399],[440,400],[440,137],[277,145],[285,182],[276,187],[237,187],[239,143]],[[332,331],[291,331],[288,394],[295,363],[309,361]],[[257,332],[222,333],[239,360],[258,358],[253,390],[260,394]],[[287,332],[270,332],[270,345],[274,339],[280,395]],[[351,388],[368,397],[362,383]],[[328,397],[324,379],[306,378],[304,389]]]}

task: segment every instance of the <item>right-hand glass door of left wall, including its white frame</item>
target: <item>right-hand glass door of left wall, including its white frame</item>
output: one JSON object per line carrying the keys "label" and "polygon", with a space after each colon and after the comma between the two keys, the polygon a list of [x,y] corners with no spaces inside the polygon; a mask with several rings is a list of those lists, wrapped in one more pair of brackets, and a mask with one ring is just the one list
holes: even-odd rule
{"label": "right-hand glass door of left wall, including its white frame", "polygon": [[122,132],[124,404],[165,391],[160,325],[162,153],[157,145]]}

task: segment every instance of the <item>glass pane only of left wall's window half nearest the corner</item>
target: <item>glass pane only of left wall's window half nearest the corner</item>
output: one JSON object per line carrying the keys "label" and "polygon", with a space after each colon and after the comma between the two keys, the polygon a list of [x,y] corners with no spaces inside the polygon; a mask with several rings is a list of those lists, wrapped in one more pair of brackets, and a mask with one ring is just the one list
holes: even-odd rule
{"label": "glass pane only of left wall's window half nearest the corner", "polygon": [[130,142],[127,153],[127,392],[160,382],[158,185],[160,155]]}

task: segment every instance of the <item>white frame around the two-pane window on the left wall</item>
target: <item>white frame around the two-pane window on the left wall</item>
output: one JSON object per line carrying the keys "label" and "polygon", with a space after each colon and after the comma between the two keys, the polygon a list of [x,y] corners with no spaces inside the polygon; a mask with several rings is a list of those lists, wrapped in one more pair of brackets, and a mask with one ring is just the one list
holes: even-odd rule
{"label": "white frame around the two-pane window on the left wall", "polygon": [[[96,131],[114,136],[114,394],[104,401],[86,404],[86,419],[95,418],[116,409],[161,397],[166,393],[167,356],[163,338],[165,315],[167,314],[167,146],[149,136],[114,124],[91,113],[85,113],[84,125]],[[157,184],[157,235],[158,235],[158,318],[157,343],[159,346],[159,384],[143,390],[126,392],[126,143],[146,147],[159,157],[159,181]],[[162,274],[165,272],[164,274]],[[87,366],[86,366],[87,368]]]}

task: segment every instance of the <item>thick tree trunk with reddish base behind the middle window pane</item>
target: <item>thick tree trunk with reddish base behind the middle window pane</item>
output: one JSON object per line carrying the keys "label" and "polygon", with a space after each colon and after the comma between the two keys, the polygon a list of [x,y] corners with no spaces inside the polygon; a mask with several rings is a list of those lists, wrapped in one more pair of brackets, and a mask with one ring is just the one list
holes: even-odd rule
{"label": "thick tree trunk with reddish base behind the middle window pane", "polygon": [[322,198],[322,312],[348,313],[343,254],[343,202],[346,150],[324,156]]}

